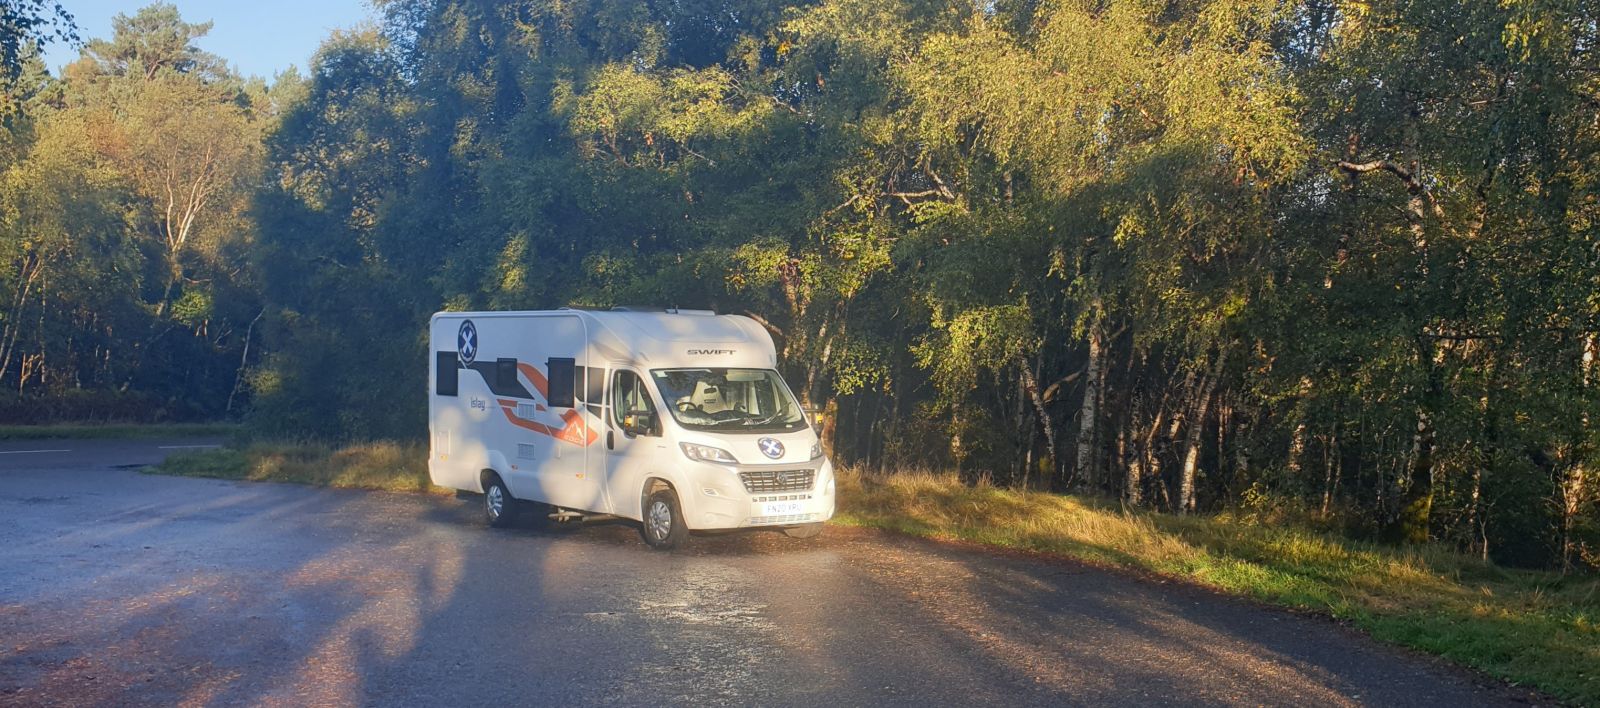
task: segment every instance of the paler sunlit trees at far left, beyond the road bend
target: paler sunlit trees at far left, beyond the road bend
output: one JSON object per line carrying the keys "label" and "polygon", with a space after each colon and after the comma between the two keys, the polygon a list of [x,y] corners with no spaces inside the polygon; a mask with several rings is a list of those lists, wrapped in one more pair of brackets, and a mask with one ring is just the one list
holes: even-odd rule
{"label": "paler sunlit trees at far left, beyond the road bend", "polygon": [[192,45],[208,29],[158,5],[61,77],[27,42],[5,58],[0,420],[208,418],[248,400],[262,304],[246,207],[275,104]]}

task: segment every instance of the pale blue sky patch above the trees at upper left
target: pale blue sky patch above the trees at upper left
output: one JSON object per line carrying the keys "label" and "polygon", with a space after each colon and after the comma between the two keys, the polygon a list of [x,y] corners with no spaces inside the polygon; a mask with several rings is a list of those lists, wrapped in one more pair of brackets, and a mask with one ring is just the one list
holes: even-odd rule
{"label": "pale blue sky patch above the trees at upper left", "polygon": [[[78,37],[110,37],[110,18],[134,14],[154,0],[61,0],[78,24]],[[202,50],[227,59],[245,75],[272,78],[298,66],[302,72],[322,40],[334,29],[347,29],[373,18],[366,0],[170,0],[186,22],[211,21],[211,32],[195,42]],[[45,46],[45,64],[59,74],[62,64],[77,61],[77,48],[64,43]]]}

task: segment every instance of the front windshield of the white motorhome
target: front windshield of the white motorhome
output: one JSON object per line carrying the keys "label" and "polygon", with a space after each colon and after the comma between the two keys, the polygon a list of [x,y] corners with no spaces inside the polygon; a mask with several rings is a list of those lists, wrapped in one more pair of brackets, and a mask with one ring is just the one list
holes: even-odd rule
{"label": "front windshield of the white motorhome", "polygon": [[658,368],[650,372],[672,418],[718,432],[805,428],[805,413],[778,372],[766,368]]}

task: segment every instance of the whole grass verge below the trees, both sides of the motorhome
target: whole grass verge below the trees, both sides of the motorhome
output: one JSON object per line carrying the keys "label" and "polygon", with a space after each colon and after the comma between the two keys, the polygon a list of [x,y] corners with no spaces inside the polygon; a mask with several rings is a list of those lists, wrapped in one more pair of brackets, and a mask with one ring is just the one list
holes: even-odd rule
{"label": "whole grass verge below the trees, both sides of the motorhome", "polygon": [[[419,444],[251,444],[173,455],[163,474],[445,492]],[[1042,551],[1186,578],[1331,615],[1562,700],[1600,705],[1600,578],[1507,570],[1442,546],[1397,549],[1306,519],[1176,517],[954,474],[840,474],[837,522]]]}

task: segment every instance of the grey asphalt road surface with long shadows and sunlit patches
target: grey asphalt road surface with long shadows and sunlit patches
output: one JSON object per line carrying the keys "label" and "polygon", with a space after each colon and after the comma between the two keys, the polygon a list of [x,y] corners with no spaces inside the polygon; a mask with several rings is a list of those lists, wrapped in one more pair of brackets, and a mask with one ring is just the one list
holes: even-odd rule
{"label": "grey asphalt road surface with long shadows and sunlit patches", "polygon": [[[0,705],[1499,705],[1331,622],[830,527],[490,530],[469,500],[0,444]],[[50,452],[56,450],[56,452]]]}

